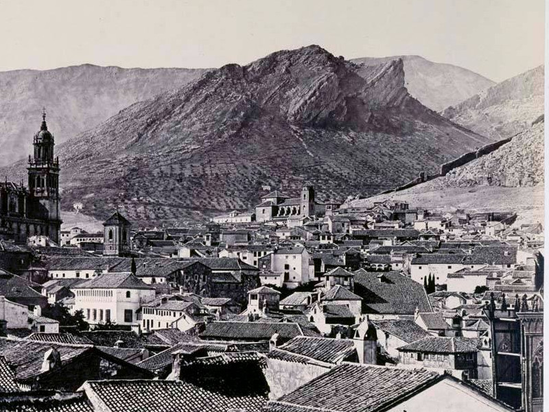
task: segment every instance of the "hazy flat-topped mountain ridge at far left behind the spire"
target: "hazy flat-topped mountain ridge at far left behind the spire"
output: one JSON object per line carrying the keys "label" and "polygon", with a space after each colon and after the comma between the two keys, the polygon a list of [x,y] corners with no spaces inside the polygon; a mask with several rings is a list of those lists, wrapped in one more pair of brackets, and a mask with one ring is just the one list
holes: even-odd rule
{"label": "hazy flat-topped mountain ridge at far left behind the spire", "polygon": [[[56,143],[92,128],[135,102],[195,80],[202,69],[122,69],[80,65],[0,72],[0,165],[26,157],[46,107]],[[5,150],[5,152],[4,152]]]}

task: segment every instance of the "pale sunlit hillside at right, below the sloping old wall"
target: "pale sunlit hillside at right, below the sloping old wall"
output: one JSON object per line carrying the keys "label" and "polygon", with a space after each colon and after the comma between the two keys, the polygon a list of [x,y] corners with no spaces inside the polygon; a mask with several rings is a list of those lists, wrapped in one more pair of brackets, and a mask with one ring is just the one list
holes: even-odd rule
{"label": "pale sunlit hillside at right, below the sloping old wall", "polygon": [[351,201],[349,205],[369,207],[388,198],[429,209],[511,210],[519,214],[519,222],[543,222],[543,119],[508,144],[445,176],[399,192]]}

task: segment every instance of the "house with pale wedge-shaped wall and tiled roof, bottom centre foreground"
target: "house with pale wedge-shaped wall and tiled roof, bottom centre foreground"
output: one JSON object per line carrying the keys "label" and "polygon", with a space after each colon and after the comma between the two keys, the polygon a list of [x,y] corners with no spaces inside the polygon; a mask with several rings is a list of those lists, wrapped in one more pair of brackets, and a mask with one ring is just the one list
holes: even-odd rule
{"label": "house with pale wedge-shaped wall and tiled roof, bottom centre foreground", "polygon": [[279,398],[346,361],[358,362],[352,339],[297,336],[267,355],[269,396]]}

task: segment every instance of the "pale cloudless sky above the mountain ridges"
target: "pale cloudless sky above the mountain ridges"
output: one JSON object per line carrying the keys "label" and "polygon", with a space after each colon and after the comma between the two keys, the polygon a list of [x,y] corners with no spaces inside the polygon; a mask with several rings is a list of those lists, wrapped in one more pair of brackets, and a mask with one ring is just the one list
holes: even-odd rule
{"label": "pale cloudless sky above the mountain ridges", "polygon": [[544,0],[0,0],[0,27],[0,71],[220,67],[310,44],[496,82],[544,62]]}

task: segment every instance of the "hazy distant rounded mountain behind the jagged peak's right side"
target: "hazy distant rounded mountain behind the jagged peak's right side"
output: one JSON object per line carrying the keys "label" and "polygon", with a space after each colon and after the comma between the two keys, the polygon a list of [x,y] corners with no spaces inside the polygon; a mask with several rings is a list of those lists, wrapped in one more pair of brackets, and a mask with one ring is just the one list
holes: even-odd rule
{"label": "hazy distant rounded mountain behind the jagged peak's right side", "polygon": [[379,65],[398,58],[404,62],[405,85],[410,95],[434,111],[463,102],[495,84],[474,71],[435,63],[421,56],[364,57],[351,61]]}

